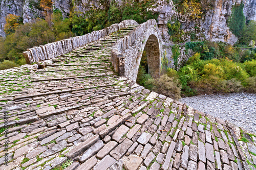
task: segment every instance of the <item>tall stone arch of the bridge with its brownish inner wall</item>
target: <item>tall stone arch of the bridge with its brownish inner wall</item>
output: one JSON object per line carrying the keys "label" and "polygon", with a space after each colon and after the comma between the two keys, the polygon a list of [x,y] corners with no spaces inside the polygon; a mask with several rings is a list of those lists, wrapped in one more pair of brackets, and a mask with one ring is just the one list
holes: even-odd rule
{"label": "tall stone arch of the bridge with its brownish inner wall", "polygon": [[143,51],[146,51],[147,56],[147,65],[148,65],[148,72],[150,75],[154,77],[158,77],[160,75],[160,69],[161,69],[161,49],[162,49],[162,43],[161,43],[161,37],[159,30],[156,28],[151,28],[146,31],[146,33],[143,34],[141,38],[141,42],[139,44],[140,48],[138,50],[138,55],[135,61],[134,65],[134,74],[130,74],[129,76],[131,80],[136,81],[140,60],[143,54]]}

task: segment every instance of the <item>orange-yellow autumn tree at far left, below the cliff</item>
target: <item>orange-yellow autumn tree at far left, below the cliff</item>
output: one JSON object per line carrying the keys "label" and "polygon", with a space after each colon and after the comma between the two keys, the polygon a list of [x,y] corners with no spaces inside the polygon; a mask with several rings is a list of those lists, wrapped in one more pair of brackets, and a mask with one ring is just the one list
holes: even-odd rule
{"label": "orange-yellow autumn tree at far left, below the cliff", "polygon": [[20,24],[20,17],[14,14],[8,14],[5,18],[6,20],[6,25],[4,28],[5,33],[11,34],[15,32],[15,29],[19,26]]}

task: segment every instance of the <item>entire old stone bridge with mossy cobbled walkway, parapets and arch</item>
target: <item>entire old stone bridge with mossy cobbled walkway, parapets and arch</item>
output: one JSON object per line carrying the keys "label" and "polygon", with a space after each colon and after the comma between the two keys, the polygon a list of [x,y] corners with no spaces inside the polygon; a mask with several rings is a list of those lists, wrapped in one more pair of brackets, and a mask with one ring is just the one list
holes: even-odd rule
{"label": "entire old stone bridge with mossy cobbled walkway, parapets and arch", "polygon": [[60,42],[0,71],[0,169],[255,169],[255,134],[133,81],[144,47],[160,70],[154,20]]}

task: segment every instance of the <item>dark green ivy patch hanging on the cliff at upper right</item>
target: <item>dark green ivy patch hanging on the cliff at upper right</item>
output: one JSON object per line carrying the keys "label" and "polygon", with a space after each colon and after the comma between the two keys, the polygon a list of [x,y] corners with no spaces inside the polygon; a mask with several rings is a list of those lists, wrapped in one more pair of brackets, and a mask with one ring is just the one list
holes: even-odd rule
{"label": "dark green ivy patch hanging on the cliff at upper right", "polygon": [[241,37],[244,26],[245,26],[245,16],[244,16],[244,4],[234,5],[232,8],[232,14],[229,18],[228,27],[231,32],[237,37]]}

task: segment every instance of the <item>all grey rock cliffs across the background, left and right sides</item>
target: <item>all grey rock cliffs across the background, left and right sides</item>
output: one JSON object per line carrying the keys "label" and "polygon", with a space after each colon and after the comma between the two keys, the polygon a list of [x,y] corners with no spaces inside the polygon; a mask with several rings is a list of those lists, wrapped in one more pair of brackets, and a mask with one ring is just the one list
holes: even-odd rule
{"label": "all grey rock cliffs across the background, left and right sides", "polygon": [[[37,8],[38,0],[0,0],[0,35],[5,36],[4,25],[6,23],[5,17],[8,14],[15,14],[23,16],[24,23],[30,22],[35,17],[41,16],[41,11]],[[202,1],[202,0],[201,0]],[[175,11],[175,6],[172,1],[168,3],[164,0],[157,1],[158,7],[152,9],[159,12],[158,26],[164,39],[168,39],[167,21],[172,16],[179,16],[182,23],[182,28],[185,32],[195,32],[198,40],[222,41],[233,44],[237,41],[227,26],[228,17],[231,15],[232,7],[235,4],[240,4],[241,0],[213,0],[211,2],[214,7],[207,10],[205,15],[198,20],[190,20],[186,16],[181,16]],[[245,4],[244,15],[246,20],[256,20],[256,0],[242,0]],[[87,6],[90,6],[88,0],[77,1],[75,9],[79,11],[86,11]],[[97,1],[90,1],[97,6]],[[119,2],[119,1],[118,1]],[[122,1],[119,2],[120,4]],[[203,2],[202,2],[203,3]],[[205,1],[204,1],[205,3]],[[206,2],[209,3],[209,2]],[[62,11],[63,17],[69,16],[72,8],[71,0],[56,0],[54,7]],[[189,35],[184,37],[190,39]]]}

